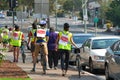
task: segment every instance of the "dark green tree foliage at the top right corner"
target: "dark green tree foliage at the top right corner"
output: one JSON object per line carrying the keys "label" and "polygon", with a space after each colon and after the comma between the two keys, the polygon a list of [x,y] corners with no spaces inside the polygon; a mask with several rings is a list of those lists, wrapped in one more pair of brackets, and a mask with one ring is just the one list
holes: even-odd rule
{"label": "dark green tree foliage at the top right corner", "polygon": [[115,0],[110,4],[110,9],[106,12],[108,20],[111,20],[114,25],[120,27],[120,1]]}

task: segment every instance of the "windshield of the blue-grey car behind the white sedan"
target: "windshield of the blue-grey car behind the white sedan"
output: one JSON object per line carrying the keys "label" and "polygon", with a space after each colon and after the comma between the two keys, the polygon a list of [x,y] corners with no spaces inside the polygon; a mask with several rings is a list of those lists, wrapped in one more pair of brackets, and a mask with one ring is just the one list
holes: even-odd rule
{"label": "windshield of the blue-grey car behind the white sedan", "polygon": [[83,44],[90,37],[92,36],[73,36],[73,41],[76,44]]}

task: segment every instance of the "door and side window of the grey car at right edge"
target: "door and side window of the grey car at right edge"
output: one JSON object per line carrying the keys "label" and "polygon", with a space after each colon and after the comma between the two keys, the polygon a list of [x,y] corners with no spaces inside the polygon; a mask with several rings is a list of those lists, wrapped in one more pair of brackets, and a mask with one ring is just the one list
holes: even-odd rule
{"label": "door and side window of the grey car at right edge", "polygon": [[110,71],[114,74],[114,76],[120,78],[120,41],[114,44],[112,51],[113,55],[111,55],[111,59],[109,59]]}

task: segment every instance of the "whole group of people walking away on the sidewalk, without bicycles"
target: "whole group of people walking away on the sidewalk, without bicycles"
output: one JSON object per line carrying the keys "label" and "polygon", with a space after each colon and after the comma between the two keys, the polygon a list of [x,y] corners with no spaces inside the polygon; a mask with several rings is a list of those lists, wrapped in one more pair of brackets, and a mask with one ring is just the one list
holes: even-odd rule
{"label": "whole group of people walking away on the sidewalk, without bicycles", "polygon": [[[43,45],[43,51],[46,61],[46,69],[55,70],[58,67],[58,60],[61,60],[62,76],[65,76],[69,65],[69,54],[71,45],[76,46],[73,41],[72,33],[69,32],[70,25],[64,23],[63,31],[55,32],[54,27],[47,29],[47,22],[41,20],[39,24],[33,23],[32,29],[28,33],[28,45],[31,45],[32,53],[32,72],[35,72],[38,55],[40,52],[40,44]],[[24,40],[24,34],[20,31],[18,25],[14,25],[14,29],[7,30],[7,26],[3,30],[2,42],[3,46],[9,43],[9,50],[13,50],[13,62],[18,62],[21,42]],[[43,74],[46,72],[43,71]]]}

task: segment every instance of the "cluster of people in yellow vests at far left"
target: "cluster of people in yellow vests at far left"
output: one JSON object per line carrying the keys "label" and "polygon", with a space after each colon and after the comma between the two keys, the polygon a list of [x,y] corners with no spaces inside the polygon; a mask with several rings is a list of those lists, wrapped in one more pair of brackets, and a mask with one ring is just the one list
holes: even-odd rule
{"label": "cluster of people in yellow vests at far left", "polygon": [[1,28],[0,34],[0,41],[3,45],[3,48],[8,48],[8,52],[12,51],[13,62],[18,62],[21,41],[24,40],[24,35],[20,31],[20,27],[16,24],[11,28],[5,26],[5,28]]}

